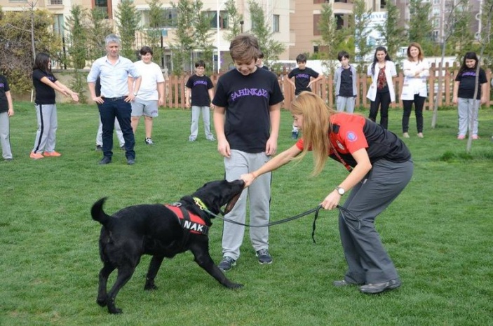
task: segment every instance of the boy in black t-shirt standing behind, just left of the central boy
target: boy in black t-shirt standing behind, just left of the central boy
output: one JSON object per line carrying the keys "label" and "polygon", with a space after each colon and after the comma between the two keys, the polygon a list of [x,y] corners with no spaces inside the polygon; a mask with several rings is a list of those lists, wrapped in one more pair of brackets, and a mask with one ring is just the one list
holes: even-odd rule
{"label": "boy in black t-shirt standing behind, just left of the central boy", "polygon": [[203,128],[205,130],[205,139],[214,141],[214,135],[210,132],[210,109],[212,97],[214,97],[214,84],[208,76],[204,75],[205,62],[198,60],[195,63],[195,74],[190,76],[187,81],[187,94],[185,96],[185,105],[190,107],[191,93],[191,125],[189,142],[195,142],[198,134],[198,116],[202,112]]}

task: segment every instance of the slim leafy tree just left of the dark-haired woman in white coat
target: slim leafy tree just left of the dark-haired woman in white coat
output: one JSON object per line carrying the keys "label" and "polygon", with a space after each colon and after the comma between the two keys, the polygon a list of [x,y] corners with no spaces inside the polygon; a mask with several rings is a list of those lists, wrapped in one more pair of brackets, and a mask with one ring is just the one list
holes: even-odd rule
{"label": "slim leafy tree just left of the dark-haired woman in white coat", "polygon": [[367,26],[370,24],[371,11],[365,9],[366,3],[364,0],[354,1],[353,15],[351,15],[351,34],[354,35],[355,45],[355,63],[358,64],[358,69],[361,69],[365,64],[365,57],[371,52],[372,46],[368,43],[370,29]]}

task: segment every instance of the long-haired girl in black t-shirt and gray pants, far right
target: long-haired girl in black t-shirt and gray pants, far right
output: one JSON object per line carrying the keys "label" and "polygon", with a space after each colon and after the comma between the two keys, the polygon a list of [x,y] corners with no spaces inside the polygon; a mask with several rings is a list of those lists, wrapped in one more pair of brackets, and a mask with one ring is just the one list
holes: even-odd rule
{"label": "long-haired girl in black t-shirt and gray pants, far right", "polygon": [[457,110],[459,111],[459,133],[457,134],[458,140],[464,140],[466,138],[467,130],[470,126],[470,119],[473,119],[473,130],[469,130],[472,133],[473,140],[477,140],[478,137],[478,116],[480,104],[487,102],[487,79],[485,71],[479,69],[479,86],[478,95],[474,100],[474,88],[476,83],[476,69],[478,67],[478,55],[474,52],[468,52],[464,55],[464,61],[462,62],[459,73],[455,78],[454,83],[454,96],[452,102],[457,104]]}

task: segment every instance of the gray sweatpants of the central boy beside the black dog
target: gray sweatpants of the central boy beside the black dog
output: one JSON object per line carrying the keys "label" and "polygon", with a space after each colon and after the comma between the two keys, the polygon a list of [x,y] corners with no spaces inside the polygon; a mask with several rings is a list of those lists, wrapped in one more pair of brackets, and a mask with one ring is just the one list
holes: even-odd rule
{"label": "gray sweatpants of the central boy beside the black dog", "polygon": [[[253,172],[269,161],[269,156],[262,153],[245,153],[231,150],[231,157],[224,158],[226,179],[231,182],[240,179],[240,175]],[[240,199],[229,212],[227,219],[245,224],[247,196],[250,202],[250,222],[252,225],[269,223],[271,200],[271,173],[257,177],[247,189],[241,193]],[[222,254],[233,259],[240,257],[240,246],[243,242],[245,226],[224,222],[222,230]],[[250,228],[250,240],[255,251],[269,248],[269,228]]]}

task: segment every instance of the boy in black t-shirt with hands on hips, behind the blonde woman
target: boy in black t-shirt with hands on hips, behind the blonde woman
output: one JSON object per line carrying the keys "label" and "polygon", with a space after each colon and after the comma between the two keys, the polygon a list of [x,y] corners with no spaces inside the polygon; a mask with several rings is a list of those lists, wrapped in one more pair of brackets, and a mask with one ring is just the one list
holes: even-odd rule
{"label": "boy in black t-shirt with hands on hips, behind the blonde woman", "polygon": [[[311,92],[310,86],[322,79],[322,75],[318,74],[315,70],[306,67],[306,55],[300,54],[296,57],[296,63],[298,67],[292,69],[288,74],[288,81],[295,88],[295,95],[298,96],[304,90]],[[295,79],[293,82],[292,79]],[[296,140],[298,138],[298,128],[292,125],[291,132],[292,139]]]}

